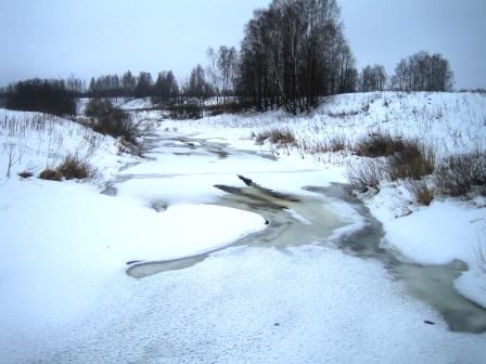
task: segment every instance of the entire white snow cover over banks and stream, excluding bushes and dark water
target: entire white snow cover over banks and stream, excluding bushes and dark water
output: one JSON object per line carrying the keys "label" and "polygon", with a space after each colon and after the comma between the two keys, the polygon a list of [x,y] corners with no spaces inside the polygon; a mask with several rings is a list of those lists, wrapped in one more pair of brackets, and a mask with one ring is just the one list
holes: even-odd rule
{"label": "entire white snow cover over banks and stream, excluding bushes and dark water", "polygon": [[[382,130],[420,138],[439,157],[484,150],[484,95],[341,95],[298,117],[273,112],[174,121],[157,112],[133,115],[154,123],[146,159],[73,121],[0,109],[1,363],[484,361],[485,333],[449,330],[440,313],[410,296],[382,262],[340,249],[340,236],[364,223],[353,206],[304,190],[345,183],[347,164],[359,160],[346,152],[310,152],[333,138],[353,143]],[[256,145],[251,138],[281,125],[294,131],[297,146]],[[17,177],[37,176],[66,154],[86,157],[97,178]],[[265,206],[255,213],[221,203],[229,190],[215,185],[246,191],[236,174],[312,200],[308,209],[291,204],[295,209],[282,213],[305,229],[315,223],[306,213],[322,209],[327,237],[229,246],[274,227],[266,225]],[[112,196],[100,194],[106,182]],[[419,207],[401,185],[385,183],[366,204],[383,224],[383,247],[423,264],[462,260],[470,269],[456,287],[486,307],[486,274],[476,255],[486,229],[482,199]],[[404,206],[412,213],[404,216]],[[130,261],[208,251],[184,269],[127,275]]]}

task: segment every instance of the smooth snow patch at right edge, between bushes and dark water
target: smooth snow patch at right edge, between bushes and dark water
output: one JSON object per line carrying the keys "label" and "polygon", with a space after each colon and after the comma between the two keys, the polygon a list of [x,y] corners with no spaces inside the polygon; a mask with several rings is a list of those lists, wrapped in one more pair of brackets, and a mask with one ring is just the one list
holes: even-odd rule
{"label": "smooth snow patch at right edge, between bushes and dark water", "polygon": [[[368,207],[384,226],[386,244],[404,260],[447,264],[455,259],[469,265],[455,285],[473,301],[486,307],[486,274],[477,258],[486,226],[484,207],[455,200],[435,200],[429,207],[405,203],[405,192],[385,186]],[[402,216],[404,205],[411,214]]]}

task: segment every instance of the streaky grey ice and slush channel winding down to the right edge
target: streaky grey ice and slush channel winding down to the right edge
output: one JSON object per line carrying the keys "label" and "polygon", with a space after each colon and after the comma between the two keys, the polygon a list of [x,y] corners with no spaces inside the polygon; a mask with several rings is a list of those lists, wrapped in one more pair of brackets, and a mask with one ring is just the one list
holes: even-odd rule
{"label": "streaky grey ice and slush channel winding down to the right edge", "polygon": [[[183,188],[184,183],[199,178],[199,183],[206,183],[207,188],[218,192],[212,196],[212,204],[255,212],[267,220],[267,229],[239,239],[231,245],[232,247],[271,248],[292,255],[295,247],[322,246],[338,248],[347,255],[364,260],[378,260],[394,280],[405,283],[412,297],[440,313],[450,330],[468,333],[486,330],[486,310],[465,299],[453,288],[453,281],[466,270],[465,264],[455,261],[447,265],[427,266],[401,261],[395,252],[381,246],[384,236],[381,224],[359,200],[349,196],[345,186],[303,185],[302,194],[280,193],[267,188],[264,183],[260,185],[257,178],[280,173],[287,178],[293,176],[294,179],[296,176],[302,177],[305,181],[311,171],[304,169],[281,171],[271,168],[269,170],[267,167],[272,165],[268,162],[274,162],[274,158],[267,154],[236,151],[225,143],[187,136],[168,140],[154,135],[152,146],[150,156],[154,158],[146,164],[152,162],[153,166],[142,168],[140,171],[137,171],[137,167],[135,170],[131,168],[110,184],[107,193],[116,194],[117,188],[123,188],[124,183],[133,184],[135,190],[142,190],[144,185],[151,183],[159,183],[164,190],[167,188],[164,183],[167,184],[167,181],[175,179],[180,181],[180,187]],[[157,162],[167,154],[170,154],[171,158],[177,158],[179,164],[178,167],[163,172],[163,161],[159,165]],[[255,164],[259,162],[263,164],[260,169],[255,167]],[[240,181],[236,174],[240,174]],[[201,180],[202,176],[206,180]],[[282,184],[285,184],[284,180]],[[188,186],[193,184],[189,183]],[[197,191],[194,194],[196,195]],[[333,200],[351,207],[364,221],[363,225],[349,233],[346,230],[349,221],[333,211]],[[157,211],[164,211],[170,206],[170,202],[152,198],[148,205]],[[218,249],[170,261],[136,262],[130,264],[127,273],[132,277],[143,278],[162,272],[188,269],[205,261],[216,250]],[[423,324],[436,323],[424,320]]]}

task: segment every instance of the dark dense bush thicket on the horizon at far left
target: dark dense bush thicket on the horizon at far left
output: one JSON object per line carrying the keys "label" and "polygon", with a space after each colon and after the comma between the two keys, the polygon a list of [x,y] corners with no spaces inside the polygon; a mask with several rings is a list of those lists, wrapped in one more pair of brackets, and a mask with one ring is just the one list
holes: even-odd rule
{"label": "dark dense bush thicket on the horizon at far left", "polygon": [[75,115],[76,100],[63,80],[30,79],[8,88],[8,108],[53,115]]}

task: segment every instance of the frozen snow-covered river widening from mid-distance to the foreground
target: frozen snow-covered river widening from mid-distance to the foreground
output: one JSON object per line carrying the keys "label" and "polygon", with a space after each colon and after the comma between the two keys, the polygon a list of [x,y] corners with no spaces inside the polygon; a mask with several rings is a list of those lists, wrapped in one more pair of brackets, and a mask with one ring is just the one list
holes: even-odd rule
{"label": "frozen snow-covered river widening from mid-distance to the foreground", "polygon": [[463,264],[404,262],[325,170],[177,133],[154,133],[150,144],[150,159],[125,168],[106,194],[156,213],[178,204],[241,209],[267,227],[183,259],[132,257],[39,362],[484,360],[484,334],[469,333],[485,330],[486,312],[451,284]]}

